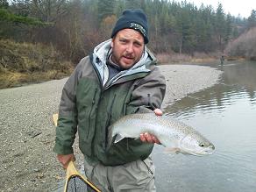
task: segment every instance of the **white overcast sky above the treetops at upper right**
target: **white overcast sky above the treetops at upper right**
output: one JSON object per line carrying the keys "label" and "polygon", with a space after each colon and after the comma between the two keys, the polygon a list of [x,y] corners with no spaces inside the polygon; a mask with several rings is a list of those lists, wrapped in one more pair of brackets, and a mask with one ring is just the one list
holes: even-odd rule
{"label": "white overcast sky above the treetops at upper right", "polygon": [[[181,2],[181,0],[176,0]],[[248,18],[252,10],[256,10],[255,0],[187,0],[187,3],[193,3],[200,6],[202,3],[205,5],[212,5],[214,10],[217,8],[218,2],[223,5],[224,12],[231,13],[232,16],[241,15],[242,18]]]}

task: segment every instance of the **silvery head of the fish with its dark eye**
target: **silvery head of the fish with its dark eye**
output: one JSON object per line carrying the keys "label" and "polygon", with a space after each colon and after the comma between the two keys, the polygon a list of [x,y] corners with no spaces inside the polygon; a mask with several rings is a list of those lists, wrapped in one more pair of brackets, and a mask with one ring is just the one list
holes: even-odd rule
{"label": "silvery head of the fish with its dark eye", "polygon": [[181,153],[203,156],[212,154],[215,146],[198,132],[193,132],[181,139],[180,150]]}

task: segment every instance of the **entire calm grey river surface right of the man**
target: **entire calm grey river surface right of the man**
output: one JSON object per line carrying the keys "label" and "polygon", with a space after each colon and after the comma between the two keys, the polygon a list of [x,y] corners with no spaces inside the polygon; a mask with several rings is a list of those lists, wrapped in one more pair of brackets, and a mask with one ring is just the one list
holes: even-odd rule
{"label": "entire calm grey river surface right of the man", "polygon": [[168,106],[165,112],[203,133],[216,152],[196,157],[165,153],[156,146],[158,191],[256,191],[256,62],[210,66],[224,72],[220,82]]}

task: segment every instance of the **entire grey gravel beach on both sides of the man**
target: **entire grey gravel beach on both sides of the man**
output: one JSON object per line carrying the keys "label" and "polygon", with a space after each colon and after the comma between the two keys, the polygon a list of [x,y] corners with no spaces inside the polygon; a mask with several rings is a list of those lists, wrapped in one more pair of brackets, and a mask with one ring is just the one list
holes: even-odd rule
{"label": "entire grey gravel beach on both sides of the man", "polygon": [[[196,65],[161,65],[167,94],[162,105],[217,83],[221,71]],[[67,78],[0,90],[0,191],[54,191],[65,171],[53,153],[61,89]],[[77,167],[82,154],[75,142]],[[58,184],[59,183],[59,184]],[[60,187],[60,186],[59,186]]]}

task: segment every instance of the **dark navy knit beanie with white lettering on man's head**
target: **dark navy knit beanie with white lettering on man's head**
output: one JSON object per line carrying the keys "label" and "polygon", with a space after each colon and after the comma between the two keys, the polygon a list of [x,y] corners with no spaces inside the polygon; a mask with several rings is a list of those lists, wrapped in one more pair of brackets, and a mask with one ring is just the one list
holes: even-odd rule
{"label": "dark navy knit beanie with white lettering on man's head", "polygon": [[111,38],[113,38],[117,32],[122,29],[134,29],[142,34],[145,44],[148,43],[147,38],[147,20],[146,15],[142,10],[126,10],[123,15],[117,20],[115,27],[113,28]]}

